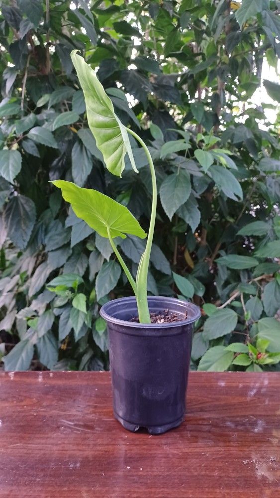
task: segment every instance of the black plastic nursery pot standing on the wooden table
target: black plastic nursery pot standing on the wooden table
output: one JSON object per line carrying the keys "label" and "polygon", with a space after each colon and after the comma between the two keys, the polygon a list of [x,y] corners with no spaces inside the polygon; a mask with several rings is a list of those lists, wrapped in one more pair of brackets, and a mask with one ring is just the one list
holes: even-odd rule
{"label": "black plastic nursery pot standing on the wooden table", "polygon": [[131,322],[138,316],[135,297],[102,306],[107,322],[113,409],[130,431],[140,427],[161,434],[177,427],[186,412],[187,376],[197,306],[170,297],[149,296],[150,312],[177,313],[187,319],[163,324]]}

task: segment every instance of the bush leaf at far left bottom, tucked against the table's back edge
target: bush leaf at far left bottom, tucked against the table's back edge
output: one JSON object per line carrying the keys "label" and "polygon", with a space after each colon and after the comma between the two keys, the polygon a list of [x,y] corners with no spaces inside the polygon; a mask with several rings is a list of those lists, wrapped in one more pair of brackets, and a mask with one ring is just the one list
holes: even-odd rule
{"label": "bush leaf at far left bottom, tucked against the table's back edge", "polygon": [[28,370],[33,358],[34,346],[28,339],[17,343],[12,350],[2,358],[6,371]]}

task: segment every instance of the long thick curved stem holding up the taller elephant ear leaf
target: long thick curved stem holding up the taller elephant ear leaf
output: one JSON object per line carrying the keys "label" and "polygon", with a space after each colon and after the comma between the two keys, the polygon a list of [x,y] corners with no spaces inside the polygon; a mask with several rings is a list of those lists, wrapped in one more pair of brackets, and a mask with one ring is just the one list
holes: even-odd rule
{"label": "long thick curved stem holding up the taller elephant ear leaf", "polygon": [[153,187],[153,197],[152,197],[152,211],[151,211],[151,219],[150,219],[150,227],[147,238],[146,249],[141,258],[141,264],[139,264],[138,274],[137,274],[137,289],[136,289],[136,300],[137,307],[139,313],[139,321],[140,323],[151,323],[150,312],[148,307],[148,297],[147,297],[147,280],[148,280],[148,271],[149,271],[149,263],[150,263],[150,255],[153,244],[154,230],[155,230],[155,221],[157,214],[157,181],[156,181],[156,172],[153,163],[153,159],[149,152],[147,145],[143,142],[142,138],[137,135],[132,129],[126,128],[127,131],[138,140],[140,145],[142,145],[145,153],[147,155],[149,166],[151,170],[152,176],[152,187]]}

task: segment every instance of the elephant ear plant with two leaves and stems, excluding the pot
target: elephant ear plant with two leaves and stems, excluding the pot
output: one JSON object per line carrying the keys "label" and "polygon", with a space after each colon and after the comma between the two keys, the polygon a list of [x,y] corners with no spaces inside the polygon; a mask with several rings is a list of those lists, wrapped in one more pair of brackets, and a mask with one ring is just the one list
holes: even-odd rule
{"label": "elephant ear plant with two leaves and stems, excluding the pot", "polygon": [[136,296],[139,321],[140,323],[151,323],[147,299],[147,278],[157,209],[154,164],[143,140],[137,133],[119,121],[114,113],[113,104],[98,81],[95,72],[77,52],[78,50],[72,51],[72,61],[84,91],[89,126],[96,140],[96,145],[103,154],[107,169],[112,174],[121,177],[125,155],[128,154],[132,168],[138,173],[128,133],[138,140],[148,157],[153,185],[152,212],[146,249],[139,262],[136,280],[131,275],[114,243],[115,237],[125,239],[126,234],[135,235],[141,239],[147,237],[130,211],[122,204],[96,190],[81,188],[64,180],[56,180],[52,183],[61,188],[63,198],[71,203],[73,211],[79,218],[84,220],[101,237],[109,239]]}

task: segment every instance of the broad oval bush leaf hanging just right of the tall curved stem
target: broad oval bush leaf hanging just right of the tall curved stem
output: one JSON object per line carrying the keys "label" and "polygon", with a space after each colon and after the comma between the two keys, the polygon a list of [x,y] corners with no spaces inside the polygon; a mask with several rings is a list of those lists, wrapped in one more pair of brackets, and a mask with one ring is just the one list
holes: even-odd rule
{"label": "broad oval bush leaf hanging just right of the tall curved stem", "polygon": [[187,201],[190,189],[189,174],[183,169],[169,175],[161,184],[160,199],[170,221],[177,209]]}

